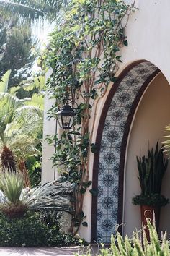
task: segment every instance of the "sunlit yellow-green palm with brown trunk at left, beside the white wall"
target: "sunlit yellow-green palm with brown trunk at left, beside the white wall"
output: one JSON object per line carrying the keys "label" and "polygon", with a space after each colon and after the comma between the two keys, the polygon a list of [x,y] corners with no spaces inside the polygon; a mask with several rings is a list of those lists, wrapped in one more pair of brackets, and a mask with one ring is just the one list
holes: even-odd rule
{"label": "sunlit yellow-green palm with brown trunk at left, beside the white wall", "polygon": [[28,155],[35,155],[35,146],[42,131],[42,111],[25,106],[23,100],[9,93],[0,93],[0,156],[3,171],[16,171],[24,176],[25,187],[30,186],[25,167]]}

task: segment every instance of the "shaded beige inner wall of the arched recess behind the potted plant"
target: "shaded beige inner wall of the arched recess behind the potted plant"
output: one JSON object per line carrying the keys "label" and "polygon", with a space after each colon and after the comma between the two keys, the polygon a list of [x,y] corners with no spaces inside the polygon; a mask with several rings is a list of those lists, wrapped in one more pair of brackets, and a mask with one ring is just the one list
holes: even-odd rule
{"label": "shaded beige inner wall of the arched recess behind the potted plant", "polygon": [[[125,169],[125,205],[124,234],[132,234],[135,228],[140,229],[140,206],[132,204],[132,197],[140,194],[136,155],[147,155],[148,144],[155,148],[157,140],[164,141],[164,127],[170,124],[170,86],[163,74],[153,79],[138,106],[127,148],[127,163]],[[160,143],[161,145],[161,143]],[[162,194],[170,198],[170,166],[164,177]],[[167,229],[169,223],[170,205],[161,211],[160,230]]]}

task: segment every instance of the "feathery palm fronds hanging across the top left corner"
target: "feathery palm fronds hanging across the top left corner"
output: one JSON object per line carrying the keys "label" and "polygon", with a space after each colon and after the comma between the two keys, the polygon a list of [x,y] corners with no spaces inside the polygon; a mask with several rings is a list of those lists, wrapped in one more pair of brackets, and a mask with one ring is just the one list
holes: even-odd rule
{"label": "feathery palm fronds hanging across the top left corner", "polygon": [[10,16],[20,23],[50,22],[58,20],[59,12],[68,7],[69,0],[0,0],[0,20],[8,20]]}

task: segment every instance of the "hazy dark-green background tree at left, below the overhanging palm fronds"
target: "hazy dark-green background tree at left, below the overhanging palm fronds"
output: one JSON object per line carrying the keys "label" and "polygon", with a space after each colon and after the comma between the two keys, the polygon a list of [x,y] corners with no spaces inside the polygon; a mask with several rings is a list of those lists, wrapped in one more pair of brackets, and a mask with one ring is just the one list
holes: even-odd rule
{"label": "hazy dark-green background tree at left, below the overhanging palm fronds", "polygon": [[32,55],[33,40],[30,27],[11,25],[1,28],[0,46],[0,77],[11,69],[11,88],[30,76],[30,67],[35,60],[35,56]]}

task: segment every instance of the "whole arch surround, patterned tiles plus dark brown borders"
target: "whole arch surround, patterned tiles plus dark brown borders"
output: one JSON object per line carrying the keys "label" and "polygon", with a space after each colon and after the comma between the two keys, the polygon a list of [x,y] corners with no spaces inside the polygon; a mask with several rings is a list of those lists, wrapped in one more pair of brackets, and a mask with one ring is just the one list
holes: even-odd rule
{"label": "whole arch surround, patterned tiles plus dark brown borders", "polygon": [[[135,109],[149,82],[160,70],[148,61],[125,69],[113,85],[99,121],[94,155],[91,241],[109,242],[122,224],[125,153]],[[121,232],[120,226],[120,232]]]}

